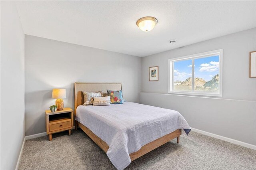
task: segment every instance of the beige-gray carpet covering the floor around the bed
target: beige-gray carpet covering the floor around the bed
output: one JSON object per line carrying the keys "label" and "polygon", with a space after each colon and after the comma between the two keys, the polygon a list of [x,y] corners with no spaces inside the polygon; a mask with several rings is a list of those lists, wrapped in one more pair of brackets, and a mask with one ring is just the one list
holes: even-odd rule
{"label": "beige-gray carpet covering the floor around the bed", "polygon": [[[20,170],[29,169],[115,169],[106,153],[82,130],[72,130],[26,140]],[[180,137],[134,160],[131,170],[256,169],[256,150],[218,140],[196,132]]]}

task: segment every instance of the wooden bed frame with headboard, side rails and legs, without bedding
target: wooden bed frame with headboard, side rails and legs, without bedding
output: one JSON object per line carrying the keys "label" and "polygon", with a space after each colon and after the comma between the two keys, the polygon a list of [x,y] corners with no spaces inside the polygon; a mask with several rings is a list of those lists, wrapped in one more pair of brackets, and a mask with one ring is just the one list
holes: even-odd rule
{"label": "wooden bed frame with headboard, side rails and legs, without bedding", "polygon": [[[75,83],[75,116],[76,116],[76,108],[79,105],[84,104],[84,95],[82,94],[82,91],[90,91],[90,92],[97,92],[97,91],[104,91],[106,93],[107,89],[111,90],[122,90],[122,84],[121,83],[81,83],[76,82]],[[86,126],[82,125],[80,122],[76,121],[75,123],[76,129],[77,127],[80,127],[104,152],[108,151],[108,144],[104,142],[101,138],[99,138],[96,134],[94,134],[90,129],[88,129]],[[165,136],[162,136],[140,148],[140,150],[133,152],[130,154],[131,160],[135,160],[139,158],[140,156],[143,156],[144,154],[154,150],[155,148],[158,148],[159,146],[162,146],[163,144],[169,142],[170,140],[177,138],[177,143],[180,142],[180,135],[181,135],[181,129],[177,129],[174,132],[171,132],[169,134],[166,134]]]}

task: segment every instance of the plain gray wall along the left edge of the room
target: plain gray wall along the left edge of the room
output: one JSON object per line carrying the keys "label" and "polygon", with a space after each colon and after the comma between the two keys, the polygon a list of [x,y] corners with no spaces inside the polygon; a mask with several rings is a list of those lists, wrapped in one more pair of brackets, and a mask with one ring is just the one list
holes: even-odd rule
{"label": "plain gray wall along the left edge of the room", "polygon": [[1,166],[15,169],[25,135],[24,32],[14,2],[1,1]]}

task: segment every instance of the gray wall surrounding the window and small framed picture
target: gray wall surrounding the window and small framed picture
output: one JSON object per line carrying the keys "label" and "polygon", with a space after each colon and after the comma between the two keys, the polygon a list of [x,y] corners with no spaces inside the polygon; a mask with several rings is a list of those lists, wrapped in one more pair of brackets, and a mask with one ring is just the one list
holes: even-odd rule
{"label": "gray wall surrounding the window and small framed picture", "polygon": [[[255,40],[254,28],[143,57],[140,103],[177,110],[193,128],[256,145],[256,79],[249,78]],[[223,49],[223,97],[168,94],[168,59],[215,49]],[[148,81],[148,67],[156,65],[159,81]]]}

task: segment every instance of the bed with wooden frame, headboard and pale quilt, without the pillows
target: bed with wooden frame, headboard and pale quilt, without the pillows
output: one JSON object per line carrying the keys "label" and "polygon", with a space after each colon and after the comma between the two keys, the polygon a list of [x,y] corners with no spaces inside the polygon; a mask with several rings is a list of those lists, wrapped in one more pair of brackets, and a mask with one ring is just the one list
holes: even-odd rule
{"label": "bed with wooden frame, headboard and pale quilt, without the pillows", "polygon": [[111,106],[83,106],[82,91],[121,90],[121,83],[75,83],[76,128],[80,127],[104,152],[117,169],[177,138],[190,127],[170,109],[125,102]]}

